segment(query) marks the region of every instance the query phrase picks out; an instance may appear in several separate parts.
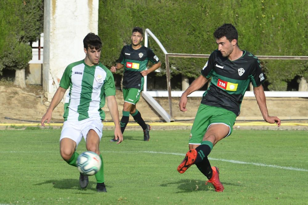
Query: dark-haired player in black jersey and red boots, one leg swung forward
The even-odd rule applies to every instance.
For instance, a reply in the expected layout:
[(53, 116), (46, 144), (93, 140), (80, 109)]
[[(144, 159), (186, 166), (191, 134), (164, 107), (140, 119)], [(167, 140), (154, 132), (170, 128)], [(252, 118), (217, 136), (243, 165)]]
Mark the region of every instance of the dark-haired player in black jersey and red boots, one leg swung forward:
[(238, 34), (232, 24), (224, 24), (215, 32), (218, 49), (214, 50), (196, 78), (180, 98), (180, 111), (187, 111), (187, 96), (200, 89), (211, 78), (203, 94), (189, 137), (189, 151), (177, 167), (184, 173), (191, 165), (204, 174), (215, 191), (224, 191), (219, 170), (211, 167), (208, 155), (221, 139), (231, 135), (241, 102), (250, 82), (263, 119), (280, 126), (280, 119), (268, 115), (262, 83), (265, 81), (260, 61), (237, 44)]

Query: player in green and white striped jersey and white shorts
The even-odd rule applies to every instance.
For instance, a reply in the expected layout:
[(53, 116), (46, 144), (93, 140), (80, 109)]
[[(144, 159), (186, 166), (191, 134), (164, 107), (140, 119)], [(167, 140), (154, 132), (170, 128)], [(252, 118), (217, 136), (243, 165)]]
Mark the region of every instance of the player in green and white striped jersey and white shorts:
[[(61, 102), (67, 89), (69, 93), (64, 104), (64, 123), (60, 137), (61, 157), (76, 167), (79, 154), (75, 151), (81, 139), (86, 141), (88, 151), (95, 152), (102, 160), (100, 170), (95, 174), (98, 192), (107, 192), (104, 183), (103, 158), (99, 151), (99, 141), (102, 137), (105, 119), (103, 107), (105, 98), (111, 117), (115, 123), (115, 139), (118, 143), (123, 140), (120, 129), (118, 106), (115, 100), (115, 83), (111, 71), (99, 62), (102, 42), (98, 35), (89, 33), (83, 39), (86, 57), (78, 62), (69, 64), (64, 70), (59, 88), (42, 117), (41, 125), (51, 120), (52, 111)], [(79, 184), (86, 188), (88, 176), (80, 174)]]

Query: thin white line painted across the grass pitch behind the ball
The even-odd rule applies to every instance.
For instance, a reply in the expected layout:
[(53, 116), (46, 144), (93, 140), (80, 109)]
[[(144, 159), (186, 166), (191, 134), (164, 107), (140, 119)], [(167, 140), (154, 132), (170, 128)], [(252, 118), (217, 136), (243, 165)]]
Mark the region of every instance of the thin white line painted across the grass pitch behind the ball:
[[(0, 153), (52, 153), (53, 151), (0, 151)], [(179, 155), (185, 156), (182, 153), (175, 153), (175, 152), (156, 152), (156, 151), (101, 151), (105, 153), (153, 153), (153, 154), (164, 154), (164, 155)], [(272, 167), (278, 169), (286, 169), (286, 170), (293, 170), (293, 171), (308, 171), (307, 169), (302, 168), (295, 168), (295, 167), (283, 167), (278, 165), (271, 165), (271, 164), (263, 164), (263, 163), (254, 163), (254, 162), (242, 162), (237, 160), (229, 160), (229, 159), (215, 159), (209, 157), (210, 160), (221, 161), (221, 162), (229, 162), (235, 164), (251, 164), (259, 167)]]

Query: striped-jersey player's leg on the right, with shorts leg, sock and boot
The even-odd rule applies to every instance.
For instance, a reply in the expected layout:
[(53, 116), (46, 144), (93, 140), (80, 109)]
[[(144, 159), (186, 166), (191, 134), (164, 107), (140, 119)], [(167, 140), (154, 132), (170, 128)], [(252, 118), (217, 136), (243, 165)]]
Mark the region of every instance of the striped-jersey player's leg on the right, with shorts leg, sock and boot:
[(103, 157), (99, 151), (99, 142), (102, 137), (103, 125), (99, 120), (89, 120), (83, 128), (83, 136), (86, 136), (87, 151), (95, 152), (102, 161), (99, 171), (95, 174), (96, 190), (98, 192), (107, 192), (104, 179)]

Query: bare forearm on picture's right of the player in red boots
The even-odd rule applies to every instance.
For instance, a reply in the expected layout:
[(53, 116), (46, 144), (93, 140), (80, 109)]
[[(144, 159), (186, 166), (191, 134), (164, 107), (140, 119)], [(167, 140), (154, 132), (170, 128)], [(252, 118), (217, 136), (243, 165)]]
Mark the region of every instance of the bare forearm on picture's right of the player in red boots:
[(263, 119), (268, 123), (276, 123), (278, 127), (280, 126), (281, 120), (276, 116), (269, 116), (266, 107), (266, 98), (263, 90), (263, 86), (253, 87), (254, 96), (257, 99), (258, 106), (260, 108)]

